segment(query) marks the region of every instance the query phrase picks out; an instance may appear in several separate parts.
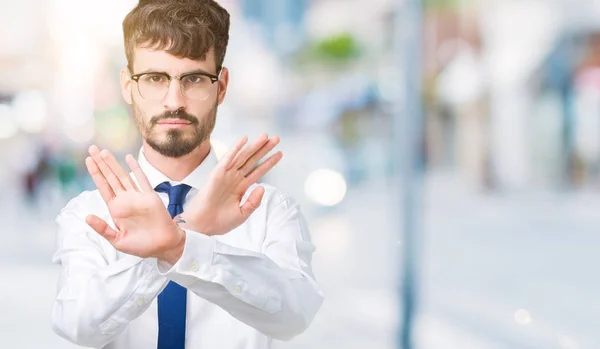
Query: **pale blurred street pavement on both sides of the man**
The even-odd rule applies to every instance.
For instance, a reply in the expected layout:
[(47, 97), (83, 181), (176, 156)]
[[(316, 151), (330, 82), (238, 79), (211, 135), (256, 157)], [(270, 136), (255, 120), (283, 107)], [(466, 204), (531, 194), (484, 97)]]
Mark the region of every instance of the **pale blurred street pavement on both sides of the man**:
[[(305, 334), (276, 348), (394, 347), (402, 242), (390, 189), (365, 183), (333, 211), (307, 213), (326, 302)], [(425, 195), (420, 348), (600, 346), (600, 196), (474, 194), (443, 174), (428, 177)], [(50, 329), (52, 218), (2, 202), (2, 347), (74, 348)]]

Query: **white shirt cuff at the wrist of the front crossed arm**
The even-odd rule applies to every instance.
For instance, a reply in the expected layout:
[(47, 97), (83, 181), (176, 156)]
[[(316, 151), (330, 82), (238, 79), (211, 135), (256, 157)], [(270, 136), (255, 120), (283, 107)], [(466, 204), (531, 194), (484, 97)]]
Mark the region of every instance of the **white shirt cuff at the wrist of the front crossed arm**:
[(210, 279), (216, 240), (192, 230), (184, 229), (184, 231), (185, 245), (179, 261), (171, 264), (159, 260), (157, 266), (160, 275), (183, 287), (188, 287), (199, 279)]

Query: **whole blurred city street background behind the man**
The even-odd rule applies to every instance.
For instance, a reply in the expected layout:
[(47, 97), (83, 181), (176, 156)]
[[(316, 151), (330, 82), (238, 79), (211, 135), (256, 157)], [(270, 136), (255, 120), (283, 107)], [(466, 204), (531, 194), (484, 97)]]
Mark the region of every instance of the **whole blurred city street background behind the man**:
[[(276, 348), (600, 348), (600, 1), (219, 2), (213, 146), (281, 136), (264, 182), (301, 203), (326, 297)], [(2, 348), (75, 348), (49, 322), (54, 218), (94, 189), (90, 144), (139, 149), (135, 4), (0, 0)]]

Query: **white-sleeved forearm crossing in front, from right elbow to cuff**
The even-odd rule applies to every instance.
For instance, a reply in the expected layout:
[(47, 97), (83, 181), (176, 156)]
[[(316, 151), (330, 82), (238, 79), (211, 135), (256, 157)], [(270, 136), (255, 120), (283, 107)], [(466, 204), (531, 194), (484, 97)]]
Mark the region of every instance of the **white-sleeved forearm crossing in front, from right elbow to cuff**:
[(159, 272), (238, 320), (276, 339), (303, 332), (322, 296), (310, 276), (280, 268), (266, 255), (229, 246), (187, 231), (176, 265)]

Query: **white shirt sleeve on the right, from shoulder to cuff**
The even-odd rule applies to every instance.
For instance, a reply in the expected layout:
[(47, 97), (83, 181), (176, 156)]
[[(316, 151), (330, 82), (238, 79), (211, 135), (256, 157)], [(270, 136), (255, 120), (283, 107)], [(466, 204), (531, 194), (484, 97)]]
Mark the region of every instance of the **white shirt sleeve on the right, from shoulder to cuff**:
[(298, 205), (280, 193), (268, 203), (261, 252), (187, 230), (179, 261), (158, 267), (238, 320), (289, 340), (309, 326), (323, 301), (311, 268), (314, 250)]

